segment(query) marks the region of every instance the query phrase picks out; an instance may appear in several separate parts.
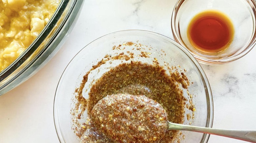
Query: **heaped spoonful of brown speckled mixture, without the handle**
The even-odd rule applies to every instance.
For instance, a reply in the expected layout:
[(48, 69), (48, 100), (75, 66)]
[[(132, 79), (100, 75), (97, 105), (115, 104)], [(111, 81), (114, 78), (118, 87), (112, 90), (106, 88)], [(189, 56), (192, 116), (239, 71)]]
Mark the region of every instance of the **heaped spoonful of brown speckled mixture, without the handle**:
[(102, 98), (91, 112), (96, 128), (117, 142), (150, 143), (165, 135), (163, 107), (144, 95), (113, 94)]

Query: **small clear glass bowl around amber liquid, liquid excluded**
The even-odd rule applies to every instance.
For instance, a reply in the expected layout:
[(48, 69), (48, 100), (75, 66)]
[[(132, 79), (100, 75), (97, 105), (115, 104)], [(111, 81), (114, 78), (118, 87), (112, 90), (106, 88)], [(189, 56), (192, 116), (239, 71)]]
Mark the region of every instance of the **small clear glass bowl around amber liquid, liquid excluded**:
[[(255, 45), (255, 9), (254, 0), (178, 0), (171, 18), (173, 37), (200, 63), (214, 65), (232, 62), (245, 56)], [(206, 10), (220, 11), (233, 23), (234, 39), (228, 48), (220, 52), (199, 51), (191, 45), (187, 37), (192, 18)]]

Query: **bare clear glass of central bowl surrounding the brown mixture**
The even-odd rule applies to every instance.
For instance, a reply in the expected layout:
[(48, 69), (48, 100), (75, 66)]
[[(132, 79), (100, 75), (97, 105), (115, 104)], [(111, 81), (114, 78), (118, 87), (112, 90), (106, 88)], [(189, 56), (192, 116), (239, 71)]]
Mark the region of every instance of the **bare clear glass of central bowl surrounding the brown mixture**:
[[(194, 95), (193, 103), (196, 108), (195, 118), (192, 120), (191, 125), (212, 127), (212, 93), (207, 77), (197, 60), (184, 47), (163, 35), (142, 30), (126, 30), (105, 35), (91, 42), (70, 61), (63, 72), (56, 89), (53, 107), (54, 123), (60, 142), (79, 142), (72, 130), (72, 116), (70, 111), (73, 106), (72, 99), (76, 94), (75, 89), (80, 86), (83, 75), (85, 75), (93, 65), (96, 65), (106, 54), (111, 55), (117, 52), (115, 51), (113, 53), (114, 45), (119, 45), (129, 41), (135, 43), (139, 42), (142, 45), (152, 47), (152, 54), (150, 56), (153, 59), (156, 57), (160, 64), (166, 62), (170, 66), (180, 67), (182, 71), (183, 69), (187, 70), (186, 75), (189, 77), (191, 82), (193, 82), (193, 84), (188, 87), (188, 91)], [(148, 48), (146, 48), (146, 50), (147, 49)], [(126, 53), (125, 50), (127, 50), (127, 48), (120, 50), (120, 52)], [(166, 56), (162, 56), (160, 54), (162, 51), (165, 52)], [(140, 57), (134, 58), (133, 60), (150, 63), (152, 58)], [(108, 66), (113, 65), (113, 63), (114, 62), (111, 62), (103, 67), (109, 70)], [(101, 72), (104, 73), (106, 71), (96, 71), (95, 77), (98, 78)], [(95, 77), (88, 77), (88, 81), (95, 81)], [(84, 94), (84, 90), (86, 89), (84, 88), (83, 95), (86, 96), (86, 94)], [(184, 90), (183, 93), (184, 97), (188, 96), (187, 90)], [(85, 114), (82, 115), (81, 120), (85, 121), (86, 117), (87, 114), (85, 112)], [(191, 120), (185, 119), (184, 124), (189, 124), (190, 121)], [(208, 134), (187, 131), (181, 132), (185, 135), (185, 138), (181, 140), (182, 142), (206, 143), (209, 138)]]

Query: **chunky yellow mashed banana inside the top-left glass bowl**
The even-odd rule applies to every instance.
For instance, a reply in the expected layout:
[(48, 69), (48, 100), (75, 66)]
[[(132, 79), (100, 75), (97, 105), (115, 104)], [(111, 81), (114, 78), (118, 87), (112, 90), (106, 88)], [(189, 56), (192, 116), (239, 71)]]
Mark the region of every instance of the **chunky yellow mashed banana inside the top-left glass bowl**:
[(60, 0), (0, 1), (0, 72), (38, 36)]

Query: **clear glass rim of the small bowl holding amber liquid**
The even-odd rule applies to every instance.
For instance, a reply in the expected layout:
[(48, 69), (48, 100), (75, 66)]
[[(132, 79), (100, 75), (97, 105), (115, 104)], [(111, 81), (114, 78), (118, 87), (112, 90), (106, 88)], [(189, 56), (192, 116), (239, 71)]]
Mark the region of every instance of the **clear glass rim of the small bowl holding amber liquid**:
[[(183, 47), (186, 48), (186, 46), (184, 46), (182, 40), (179, 38), (178, 36), (178, 32), (176, 31), (176, 18), (177, 18), (177, 13), (181, 7), (181, 5), (183, 4), (183, 2), (185, 2), (186, 0), (178, 0), (177, 3), (175, 4), (174, 8), (173, 8), (173, 12), (172, 12), (172, 16), (171, 16), (171, 28), (172, 28), (172, 34), (173, 34), (173, 38), (176, 42), (178, 42), (179, 44), (181, 44)], [(241, 1), (245, 1), (245, 2), (251, 2), (253, 4), (253, 8), (252, 5), (250, 4), (250, 8), (252, 8), (253, 11), (253, 15), (254, 18), (256, 19), (256, 1), (255, 0), (241, 0)], [(255, 25), (255, 19), (254, 19), (254, 27)], [(254, 29), (254, 34), (252, 36), (252, 40), (249, 42), (249, 44), (246, 46), (246, 48), (241, 51), (239, 54), (237, 54), (236, 56), (233, 57), (229, 57), (229, 58), (225, 58), (225, 59), (221, 59), (221, 60), (214, 60), (214, 59), (207, 59), (207, 58), (203, 58), (201, 56), (195, 55), (193, 52), (190, 52), (190, 50), (188, 50), (188, 48), (186, 48), (200, 63), (203, 64), (208, 64), (208, 65), (221, 65), (221, 64), (226, 64), (226, 63), (230, 63), (232, 61), (235, 61), (237, 59), (242, 58), (243, 56), (245, 56), (247, 53), (249, 53), (251, 51), (251, 49), (255, 46), (256, 44), (256, 28)]]

